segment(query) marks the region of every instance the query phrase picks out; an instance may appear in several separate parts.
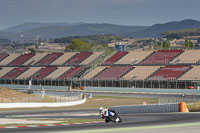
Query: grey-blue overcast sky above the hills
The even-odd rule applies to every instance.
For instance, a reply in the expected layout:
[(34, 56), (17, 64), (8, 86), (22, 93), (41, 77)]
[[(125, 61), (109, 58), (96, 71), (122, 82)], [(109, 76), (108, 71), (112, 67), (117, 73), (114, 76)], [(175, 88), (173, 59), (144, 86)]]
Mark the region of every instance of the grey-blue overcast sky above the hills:
[(25, 22), (150, 26), (200, 20), (200, 0), (0, 0), (0, 29)]

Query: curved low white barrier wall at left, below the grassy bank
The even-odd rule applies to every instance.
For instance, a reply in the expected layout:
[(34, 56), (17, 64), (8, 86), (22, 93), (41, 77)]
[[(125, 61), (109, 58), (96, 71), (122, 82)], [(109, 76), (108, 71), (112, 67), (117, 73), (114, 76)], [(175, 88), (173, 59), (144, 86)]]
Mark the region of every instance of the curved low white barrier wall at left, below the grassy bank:
[(38, 108), (38, 107), (65, 107), (83, 104), (86, 98), (79, 101), (60, 103), (0, 103), (0, 108)]

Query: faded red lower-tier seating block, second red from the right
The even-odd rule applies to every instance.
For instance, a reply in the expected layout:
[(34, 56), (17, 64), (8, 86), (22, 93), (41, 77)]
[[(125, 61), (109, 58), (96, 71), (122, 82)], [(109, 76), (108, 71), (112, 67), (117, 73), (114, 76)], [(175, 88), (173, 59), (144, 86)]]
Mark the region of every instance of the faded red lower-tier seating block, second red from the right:
[(102, 79), (102, 80), (112, 80), (119, 79), (124, 74), (128, 73), (133, 67), (132, 66), (111, 66), (104, 71), (97, 74), (94, 79)]

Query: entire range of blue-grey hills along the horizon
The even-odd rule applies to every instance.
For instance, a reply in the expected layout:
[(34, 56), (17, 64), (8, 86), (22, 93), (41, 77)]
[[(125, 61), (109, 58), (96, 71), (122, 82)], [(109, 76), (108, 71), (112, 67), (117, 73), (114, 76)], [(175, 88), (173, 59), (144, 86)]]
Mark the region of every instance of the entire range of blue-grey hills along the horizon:
[[(161, 33), (200, 28), (200, 21), (185, 19), (152, 26), (124, 26), (108, 23), (39, 23), (30, 22), (0, 31), (0, 38), (9, 40), (55, 39), (68, 36), (120, 35), (135, 38), (161, 37)], [(23, 37), (21, 37), (23, 35)]]

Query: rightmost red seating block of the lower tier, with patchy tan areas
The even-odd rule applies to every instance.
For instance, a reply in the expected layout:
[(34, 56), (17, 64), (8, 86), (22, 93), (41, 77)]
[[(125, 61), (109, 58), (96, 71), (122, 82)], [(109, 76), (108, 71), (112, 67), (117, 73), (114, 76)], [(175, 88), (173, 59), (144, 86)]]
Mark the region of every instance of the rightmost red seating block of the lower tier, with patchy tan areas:
[(176, 80), (183, 73), (187, 72), (190, 66), (165, 66), (153, 73), (148, 80)]

